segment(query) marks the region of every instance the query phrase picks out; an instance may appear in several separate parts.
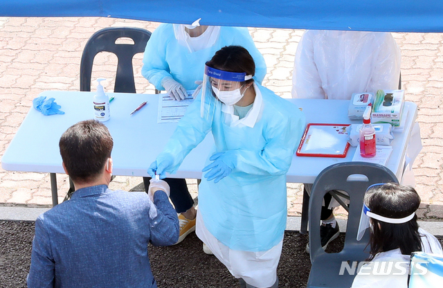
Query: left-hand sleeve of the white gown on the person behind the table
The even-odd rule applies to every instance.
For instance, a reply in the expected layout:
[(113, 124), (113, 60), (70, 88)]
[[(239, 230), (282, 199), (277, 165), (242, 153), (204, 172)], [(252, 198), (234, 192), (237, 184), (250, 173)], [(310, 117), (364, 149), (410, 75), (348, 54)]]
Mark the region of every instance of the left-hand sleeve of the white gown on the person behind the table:
[(309, 33), (305, 33), (298, 43), (292, 71), (292, 98), (325, 99), (317, 66), (322, 63), (314, 60), (314, 45)]

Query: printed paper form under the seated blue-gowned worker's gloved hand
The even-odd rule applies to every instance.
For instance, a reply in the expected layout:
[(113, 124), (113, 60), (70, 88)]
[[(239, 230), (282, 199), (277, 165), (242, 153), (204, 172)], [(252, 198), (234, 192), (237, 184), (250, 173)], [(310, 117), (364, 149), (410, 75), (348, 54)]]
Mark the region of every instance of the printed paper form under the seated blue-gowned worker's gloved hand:
[(188, 106), (194, 102), (192, 93), (194, 90), (187, 91), (188, 95), (184, 100), (172, 100), (168, 93), (159, 94), (159, 112), (157, 113), (157, 123), (174, 123), (179, 122), (181, 117), (185, 115)]

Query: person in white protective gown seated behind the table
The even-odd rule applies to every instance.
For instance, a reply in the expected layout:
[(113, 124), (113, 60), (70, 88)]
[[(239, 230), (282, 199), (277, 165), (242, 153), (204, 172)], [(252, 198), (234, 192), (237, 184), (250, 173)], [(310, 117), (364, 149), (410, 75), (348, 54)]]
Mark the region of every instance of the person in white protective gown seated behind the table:
[[(350, 100), (352, 93), (398, 89), (400, 60), (399, 46), (390, 33), (306, 30), (297, 46), (292, 97)], [(419, 131), (418, 125), (415, 129)], [(408, 152), (410, 166), (421, 149), (417, 133), (418, 147)], [(311, 184), (305, 184), (305, 190), (310, 194)], [(326, 249), (340, 234), (332, 213), (339, 204), (329, 193), (324, 202), (320, 237)]]

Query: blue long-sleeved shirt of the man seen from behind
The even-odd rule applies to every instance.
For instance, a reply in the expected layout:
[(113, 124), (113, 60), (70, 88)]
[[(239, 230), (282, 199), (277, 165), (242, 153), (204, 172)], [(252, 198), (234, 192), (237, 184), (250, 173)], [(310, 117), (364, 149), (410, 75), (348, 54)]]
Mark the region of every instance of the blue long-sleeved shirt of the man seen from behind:
[(156, 287), (147, 244), (177, 242), (177, 213), (163, 191), (150, 219), (145, 192), (92, 186), (35, 222), (28, 287)]

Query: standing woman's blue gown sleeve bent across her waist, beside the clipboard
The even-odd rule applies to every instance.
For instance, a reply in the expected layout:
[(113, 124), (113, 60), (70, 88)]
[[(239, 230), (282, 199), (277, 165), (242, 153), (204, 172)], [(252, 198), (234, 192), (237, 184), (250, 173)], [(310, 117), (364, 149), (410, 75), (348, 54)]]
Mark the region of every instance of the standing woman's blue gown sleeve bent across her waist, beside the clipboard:
[(229, 150), (228, 153), (235, 155), (233, 172), (253, 175), (286, 174), (304, 128), (305, 116), (300, 112), (264, 132), (267, 143), (262, 151)]

